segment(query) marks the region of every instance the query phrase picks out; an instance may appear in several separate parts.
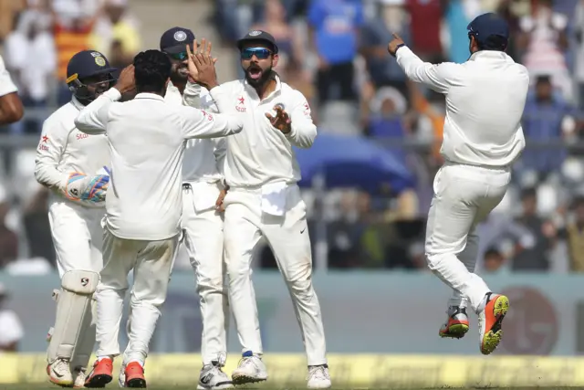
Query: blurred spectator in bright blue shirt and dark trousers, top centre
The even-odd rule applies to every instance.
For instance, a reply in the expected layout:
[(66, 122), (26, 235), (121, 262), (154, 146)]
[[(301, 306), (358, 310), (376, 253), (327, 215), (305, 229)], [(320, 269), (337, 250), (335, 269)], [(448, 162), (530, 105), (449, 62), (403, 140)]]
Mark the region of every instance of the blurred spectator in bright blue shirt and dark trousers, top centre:
[(363, 23), (360, 0), (312, 0), (308, 8), (310, 40), (318, 53), (318, 100), (357, 100), (353, 58)]

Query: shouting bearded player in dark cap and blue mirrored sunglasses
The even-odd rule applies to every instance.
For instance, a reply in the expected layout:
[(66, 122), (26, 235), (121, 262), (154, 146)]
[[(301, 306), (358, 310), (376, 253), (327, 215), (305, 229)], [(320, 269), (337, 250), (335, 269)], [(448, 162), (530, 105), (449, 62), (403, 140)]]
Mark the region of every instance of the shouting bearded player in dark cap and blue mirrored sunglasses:
[[(292, 145), (312, 146), (317, 127), (305, 97), (273, 71), (277, 45), (265, 31), (237, 43), (245, 79), (218, 86), (201, 82), (222, 113), (235, 113), (244, 130), (227, 138), (224, 161), (225, 262), (235, 325), (243, 359), (232, 374), (235, 385), (267, 379), (257, 318), (251, 261), (261, 237), (272, 248), (297, 313), (308, 355), (308, 387), (328, 388), (325, 333), (312, 287), (312, 256), (306, 205), (297, 181), (300, 170)], [(200, 56), (199, 54), (195, 55)], [(210, 67), (214, 65), (208, 64)]]

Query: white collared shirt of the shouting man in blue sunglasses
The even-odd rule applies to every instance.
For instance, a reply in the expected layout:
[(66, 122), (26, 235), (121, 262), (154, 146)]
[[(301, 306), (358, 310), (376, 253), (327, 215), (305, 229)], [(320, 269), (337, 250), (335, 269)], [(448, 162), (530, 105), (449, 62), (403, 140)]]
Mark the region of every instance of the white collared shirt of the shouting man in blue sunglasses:
[[(300, 168), (292, 145), (309, 148), (317, 137), (308, 101), (298, 90), (276, 77), (276, 90), (259, 99), (245, 80), (235, 80), (210, 91), (222, 113), (244, 119), (242, 132), (225, 139), (224, 177), (233, 187), (259, 186), (300, 180)], [(282, 107), (291, 119), (292, 131), (284, 134), (272, 126), (266, 113)]]

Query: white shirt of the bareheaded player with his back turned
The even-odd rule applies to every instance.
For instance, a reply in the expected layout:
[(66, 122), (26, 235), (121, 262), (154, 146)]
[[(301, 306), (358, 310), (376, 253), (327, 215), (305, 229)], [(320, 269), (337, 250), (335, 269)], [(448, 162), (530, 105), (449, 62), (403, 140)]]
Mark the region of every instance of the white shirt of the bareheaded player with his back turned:
[(241, 119), (169, 104), (152, 93), (117, 102), (110, 89), (79, 113), (78, 129), (105, 133), (111, 175), (106, 226), (120, 238), (161, 240), (181, 231), (184, 141), (240, 132)]

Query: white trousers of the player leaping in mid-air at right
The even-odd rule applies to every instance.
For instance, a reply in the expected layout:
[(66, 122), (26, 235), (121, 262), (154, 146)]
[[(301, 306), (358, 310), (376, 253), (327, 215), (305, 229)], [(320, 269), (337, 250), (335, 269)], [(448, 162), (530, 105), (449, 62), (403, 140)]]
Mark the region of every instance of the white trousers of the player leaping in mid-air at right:
[(509, 168), (445, 163), (434, 178), (434, 195), (426, 227), (428, 267), (454, 290), (449, 306), (477, 311), (489, 292), (474, 273), (478, 252), (475, 227), (505, 196)]

